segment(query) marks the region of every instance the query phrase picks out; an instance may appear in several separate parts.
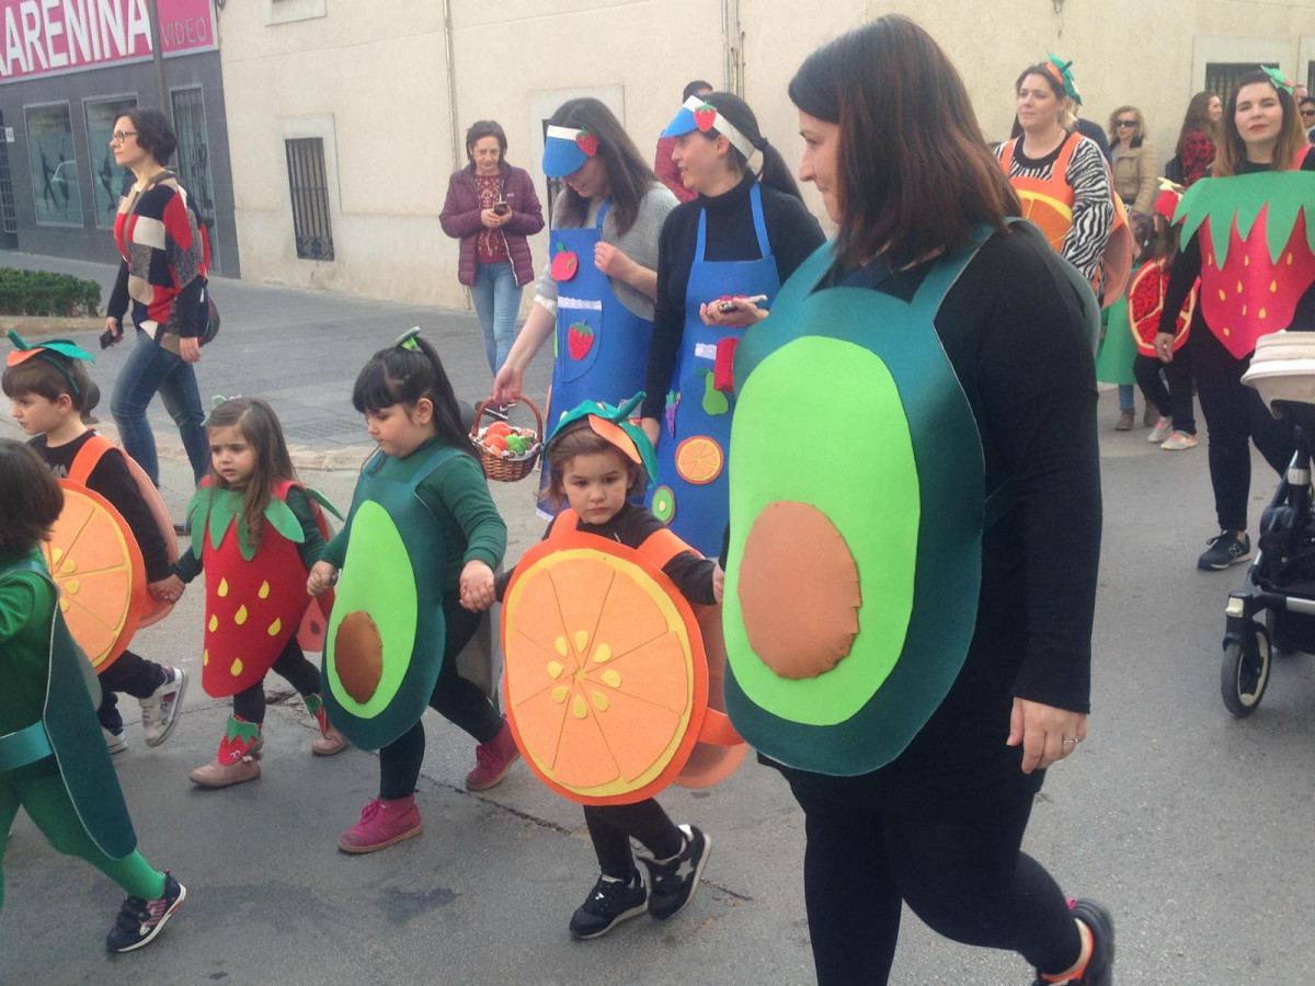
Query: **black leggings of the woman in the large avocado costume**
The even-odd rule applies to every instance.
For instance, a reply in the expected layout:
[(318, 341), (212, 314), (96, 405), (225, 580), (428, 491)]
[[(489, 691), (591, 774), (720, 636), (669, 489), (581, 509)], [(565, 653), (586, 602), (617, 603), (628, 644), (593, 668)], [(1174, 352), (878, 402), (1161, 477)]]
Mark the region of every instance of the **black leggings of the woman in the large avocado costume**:
[(819, 986), (884, 986), (907, 902), (934, 931), (1019, 952), (1043, 973), (1072, 968), (1082, 941), (1059, 885), (1019, 851), (1032, 810), (1020, 790), (952, 819), (884, 811), (863, 778), (788, 774), (805, 812), (803, 897)]

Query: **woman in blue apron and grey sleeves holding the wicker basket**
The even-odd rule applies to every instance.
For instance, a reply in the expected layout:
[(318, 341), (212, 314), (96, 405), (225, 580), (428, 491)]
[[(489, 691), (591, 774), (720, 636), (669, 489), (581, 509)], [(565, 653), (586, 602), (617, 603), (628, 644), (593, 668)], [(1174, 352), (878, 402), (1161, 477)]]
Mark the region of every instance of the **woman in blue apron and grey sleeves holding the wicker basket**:
[[(621, 405), (644, 384), (658, 235), (676, 196), (644, 163), (617, 117), (594, 99), (569, 100), (548, 124), (543, 174), (563, 189), (552, 206), (548, 266), (530, 316), (493, 381), (493, 400), (521, 397), (525, 368), (552, 337), (552, 389), (543, 425), (583, 401)], [(539, 513), (552, 517), (542, 492)]]

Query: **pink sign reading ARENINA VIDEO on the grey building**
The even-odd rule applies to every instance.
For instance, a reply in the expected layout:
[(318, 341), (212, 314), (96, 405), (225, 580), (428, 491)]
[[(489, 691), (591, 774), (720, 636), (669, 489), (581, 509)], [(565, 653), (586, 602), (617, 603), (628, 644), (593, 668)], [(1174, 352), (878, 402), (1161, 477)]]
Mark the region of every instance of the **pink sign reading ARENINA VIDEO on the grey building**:
[[(210, 0), (158, 0), (164, 57), (217, 47)], [(151, 57), (146, 0), (0, 0), (0, 83)]]

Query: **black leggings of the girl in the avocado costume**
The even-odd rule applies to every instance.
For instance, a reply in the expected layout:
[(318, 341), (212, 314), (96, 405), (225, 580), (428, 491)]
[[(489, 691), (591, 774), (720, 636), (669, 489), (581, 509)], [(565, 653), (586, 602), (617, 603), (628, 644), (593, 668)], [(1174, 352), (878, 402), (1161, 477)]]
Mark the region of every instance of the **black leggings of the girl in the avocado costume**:
[[(447, 624), (443, 665), (429, 706), (466, 730), (476, 741), (489, 743), (502, 731), (502, 716), (484, 694), (484, 689), (456, 673), (456, 655), (475, 636), (481, 615), (464, 609), (455, 592), (443, 597), (443, 619)], [(423, 763), (425, 727), (417, 719), (406, 732), (379, 751), (379, 797), (392, 801), (414, 794)]]

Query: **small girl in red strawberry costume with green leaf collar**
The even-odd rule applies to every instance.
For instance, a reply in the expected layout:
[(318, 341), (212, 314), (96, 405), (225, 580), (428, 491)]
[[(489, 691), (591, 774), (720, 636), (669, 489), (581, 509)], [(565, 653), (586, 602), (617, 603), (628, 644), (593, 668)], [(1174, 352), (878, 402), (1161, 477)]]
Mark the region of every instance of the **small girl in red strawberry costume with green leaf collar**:
[(347, 740), (329, 722), (320, 669), (306, 660), (297, 628), (310, 597), (305, 573), (320, 559), (327, 526), (316, 490), (292, 468), (274, 409), (256, 397), (220, 404), (206, 421), (210, 475), (188, 506), (192, 550), (174, 565), (181, 590), (205, 572), (205, 643), (201, 685), (214, 698), (233, 695), (233, 713), (214, 760), (188, 777), (227, 787), (260, 776), (264, 745), (264, 676), (275, 670), (320, 724), (317, 756), (342, 752)]

